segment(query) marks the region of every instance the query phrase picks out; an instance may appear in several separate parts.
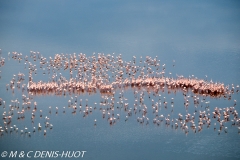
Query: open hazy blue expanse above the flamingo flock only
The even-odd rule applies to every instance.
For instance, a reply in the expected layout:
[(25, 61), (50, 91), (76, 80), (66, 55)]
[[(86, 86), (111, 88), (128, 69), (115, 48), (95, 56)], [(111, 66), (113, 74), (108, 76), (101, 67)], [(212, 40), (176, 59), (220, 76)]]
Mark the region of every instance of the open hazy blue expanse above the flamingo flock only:
[[(231, 83), (226, 77), (240, 78), (239, 65), (233, 66), (239, 62), (239, 6), (239, 1), (1, 1), (0, 47), (44, 55), (115, 52), (126, 60), (158, 55), (163, 63), (175, 59), (185, 76), (222, 73), (226, 64), (238, 74), (215, 80)], [(202, 69), (188, 72), (186, 62)]]

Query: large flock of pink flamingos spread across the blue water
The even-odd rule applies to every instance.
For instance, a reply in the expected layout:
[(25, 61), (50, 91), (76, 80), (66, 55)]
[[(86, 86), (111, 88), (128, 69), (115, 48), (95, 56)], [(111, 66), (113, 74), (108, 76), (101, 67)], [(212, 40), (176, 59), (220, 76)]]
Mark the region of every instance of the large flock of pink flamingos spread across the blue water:
[[(1, 51), (0, 51), (1, 53)], [(201, 132), (204, 126), (208, 128), (214, 125), (214, 130), (221, 134), (222, 130), (228, 132), (225, 123), (231, 123), (238, 127), (240, 133), (240, 118), (236, 110), (237, 101), (234, 100), (231, 106), (214, 107), (211, 111), (207, 97), (224, 98), (231, 101), (232, 94), (238, 94), (239, 85), (224, 85), (223, 83), (214, 83), (207, 79), (198, 79), (190, 76), (166, 76), (166, 65), (161, 64), (156, 56), (155, 58), (147, 56), (140, 57), (139, 61), (133, 56), (129, 62), (123, 61), (121, 54), (115, 56), (103, 53), (87, 57), (85, 54), (55, 54), (55, 56), (45, 58), (40, 52), (30, 51), (30, 55), (12, 52), (8, 53), (8, 58), (24, 64), (24, 69), (28, 70), (28, 76), (19, 72), (13, 75), (12, 79), (6, 84), (7, 92), (15, 90), (20, 91), (22, 97), (19, 99), (5, 102), (0, 99), (0, 106), (3, 107), (2, 120), (0, 123), (0, 134), (20, 132), (21, 135), (29, 135), (32, 132), (44, 130), (47, 134), (48, 129), (53, 128), (50, 123), (49, 115), (53, 112), (59, 113), (59, 108), (48, 107), (48, 113), (43, 112), (43, 107), (38, 106), (34, 97), (42, 95), (69, 96), (70, 99), (64, 106), (62, 112), (70, 109), (72, 114), (80, 113), (83, 117), (91, 115), (92, 112), (100, 110), (103, 119), (107, 119), (110, 125), (114, 125), (120, 120), (128, 121), (130, 117), (136, 115), (136, 121), (140, 124), (171, 126), (173, 129), (181, 128), (184, 133), (190, 129), (193, 132)], [(175, 62), (175, 61), (174, 61)], [(173, 67), (175, 64), (173, 62)], [(5, 58), (0, 58), (0, 67), (4, 67)], [(39, 74), (48, 75), (48, 81), (34, 81)], [(0, 72), (1, 76), (1, 72)], [(27, 78), (26, 78), (27, 77)], [(66, 78), (67, 77), (67, 78)], [(125, 90), (132, 89), (133, 102), (128, 102)], [(193, 113), (182, 115), (178, 113), (173, 116), (175, 101), (171, 98), (168, 103), (166, 97), (161, 94), (176, 93), (181, 91), (184, 99), (186, 112), (188, 107), (195, 107)], [(1, 89), (3, 93), (3, 90)], [(83, 93), (100, 94), (100, 102), (83, 101)], [(6, 105), (9, 103), (9, 105)], [(168, 108), (169, 114), (163, 115), (161, 108)], [(202, 108), (202, 106), (205, 106)], [(68, 106), (68, 107), (65, 107)], [(179, 104), (177, 104), (179, 106)], [(201, 106), (201, 107), (200, 107)], [(124, 111), (121, 113), (120, 111)], [(17, 115), (15, 114), (17, 112)], [(150, 115), (152, 113), (152, 115)], [(44, 122), (36, 123), (35, 127), (29, 129), (24, 127), (18, 129), (16, 124), (12, 124), (12, 119), (24, 119), (25, 114), (31, 114), (31, 121), (35, 124), (35, 117), (45, 117)], [(124, 115), (122, 115), (124, 114)], [(44, 127), (42, 127), (42, 125)], [(93, 122), (97, 126), (97, 119)]]

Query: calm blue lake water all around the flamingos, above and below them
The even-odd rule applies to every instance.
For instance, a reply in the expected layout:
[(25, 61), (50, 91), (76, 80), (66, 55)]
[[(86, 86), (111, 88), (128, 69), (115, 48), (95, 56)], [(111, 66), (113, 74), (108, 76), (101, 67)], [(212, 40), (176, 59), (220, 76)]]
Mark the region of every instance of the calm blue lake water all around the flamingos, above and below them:
[[(235, 1), (217, 2), (185, 2), (159, 3), (144, 2), (66, 2), (66, 1), (22, 1), (0, 2), (0, 48), (1, 57), (5, 58), (5, 65), (0, 68), (0, 98), (6, 101), (6, 108), (0, 107), (0, 113), (9, 111), (11, 100), (18, 98), (22, 104), (22, 92), (15, 89), (6, 90), (6, 84), (13, 74), (19, 72), (28, 77), (28, 70), (24, 69), (24, 62), (15, 61), (8, 57), (8, 52), (21, 52), (24, 56), (29, 51), (39, 51), (49, 58), (56, 53), (85, 53), (91, 56), (93, 52), (116, 55), (122, 54), (124, 61), (131, 61), (132, 56), (137, 60), (140, 56), (158, 56), (160, 63), (166, 64), (166, 75), (194, 75), (225, 85), (239, 84), (240, 79), (240, 10)], [(30, 60), (30, 59), (29, 59)], [(173, 67), (175, 60), (175, 67)], [(49, 79), (43, 75), (39, 62), (33, 62), (37, 67), (34, 81)], [(26, 94), (27, 92), (25, 92)], [(119, 91), (115, 98), (119, 96)], [(147, 93), (146, 93), (147, 94)], [(161, 92), (170, 103), (174, 98), (174, 111), (171, 106), (159, 108), (159, 115), (170, 114), (177, 118), (193, 113), (195, 108), (190, 102), (188, 109), (184, 107), (181, 91), (176, 94)], [(189, 92), (190, 94), (190, 92)], [(189, 129), (186, 135), (180, 128), (174, 129), (162, 122), (159, 126), (152, 123), (154, 114), (151, 101), (145, 97), (148, 106), (149, 124), (137, 122), (139, 114), (133, 114), (125, 121), (127, 113), (123, 109), (115, 109), (120, 119), (116, 124), (109, 125), (107, 118), (102, 118), (99, 110), (101, 95), (83, 93), (78, 96), (89, 106), (97, 102), (97, 109), (92, 114), (83, 117), (77, 110), (72, 114), (68, 108), (68, 100), (75, 95), (33, 96), (32, 103), (38, 103), (38, 110), (43, 110), (43, 118), (36, 113), (34, 123), (31, 122), (31, 110), (25, 111), (25, 119), (17, 120), (17, 110), (14, 110), (12, 125), (17, 125), (18, 133), (5, 133), (0, 137), (0, 152), (3, 151), (77, 151), (87, 153), (79, 159), (239, 159), (240, 135), (237, 126), (231, 122), (224, 125), (228, 133), (218, 135), (211, 126), (204, 125), (201, 132), (194, 133)], [(129, 107), (133, 108), (134, 95), (131, 88), (124, 90), (124, 97), (128, 99)], [(156, 102), (158, 97), (151, 94)], [(239, 94), (233, 94), (231, 100), (207, 97), (210, 101), (210, 111), (231, 107), (233, 100), (237, 100), (236, 110), (240, 112)], [(116, 102), (115, 102), (116, 103)], [(48, 107), (52, 106), (49, 114)], [(63, 113), (63, 107), (66, 113)], [(55, 114), (55, 107), (59, 108)], [(33, 108), (33, 105), (32, 105)], [(204, 111), (205, 105), (198, 110)], [(211, 113), (210, 112), (210, 113)], [(20, 134), (24, 127), (32, 131), (38, 123), (44, 125), (44, 117), (50, 118), (53, 129), (36, 131), (31, 137)], [(97, 125), (94, 126), (94, 120)], [(3, 121), (0, 121), (3, 126)], [(43, 126), (44, 128), (44, 126)], [(58, 157), (59, 158), (59, 157)], [(56, 159), (58, 159), (56, 158)], [(6, 158), (5, 158), (6, 159)], [(71, 158), (75, 159), (75, 158)]]

